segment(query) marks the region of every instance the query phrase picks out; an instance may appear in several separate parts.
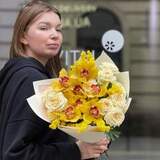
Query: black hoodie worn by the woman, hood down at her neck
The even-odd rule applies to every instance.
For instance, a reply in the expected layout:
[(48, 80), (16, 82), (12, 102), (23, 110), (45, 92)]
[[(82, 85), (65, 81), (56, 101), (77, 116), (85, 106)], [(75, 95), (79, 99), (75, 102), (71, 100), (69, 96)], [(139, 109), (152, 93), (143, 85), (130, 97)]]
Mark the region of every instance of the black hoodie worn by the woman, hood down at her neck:
[(69, 136), (49, 129), (29, 107), (32, 82), (51, 78), (33, 58), (13, 58), (0, 72), (0, 160), (80, 160)]

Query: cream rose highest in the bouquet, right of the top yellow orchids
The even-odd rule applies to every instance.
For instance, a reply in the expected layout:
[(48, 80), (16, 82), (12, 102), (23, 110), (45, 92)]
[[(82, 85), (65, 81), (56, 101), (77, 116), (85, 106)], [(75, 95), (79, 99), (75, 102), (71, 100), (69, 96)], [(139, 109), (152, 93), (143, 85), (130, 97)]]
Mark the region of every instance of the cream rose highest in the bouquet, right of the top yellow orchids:
[(116, 76), (115, 73), (119, 73), (118, 68), (113, 65), (112, 63), (102, 63), (99, 66), (99, 72), (98, 72), (98, 82), (104, 83), (108, 81), (115, 81)]

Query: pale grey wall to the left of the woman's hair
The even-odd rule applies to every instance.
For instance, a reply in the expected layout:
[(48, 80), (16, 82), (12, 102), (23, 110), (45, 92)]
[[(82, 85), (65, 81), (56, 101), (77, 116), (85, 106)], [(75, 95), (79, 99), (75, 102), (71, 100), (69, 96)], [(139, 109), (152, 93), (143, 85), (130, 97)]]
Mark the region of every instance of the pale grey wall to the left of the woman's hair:
[(0, 68), (8, 58), (13, 24), (24, 0), (0, 0)]

